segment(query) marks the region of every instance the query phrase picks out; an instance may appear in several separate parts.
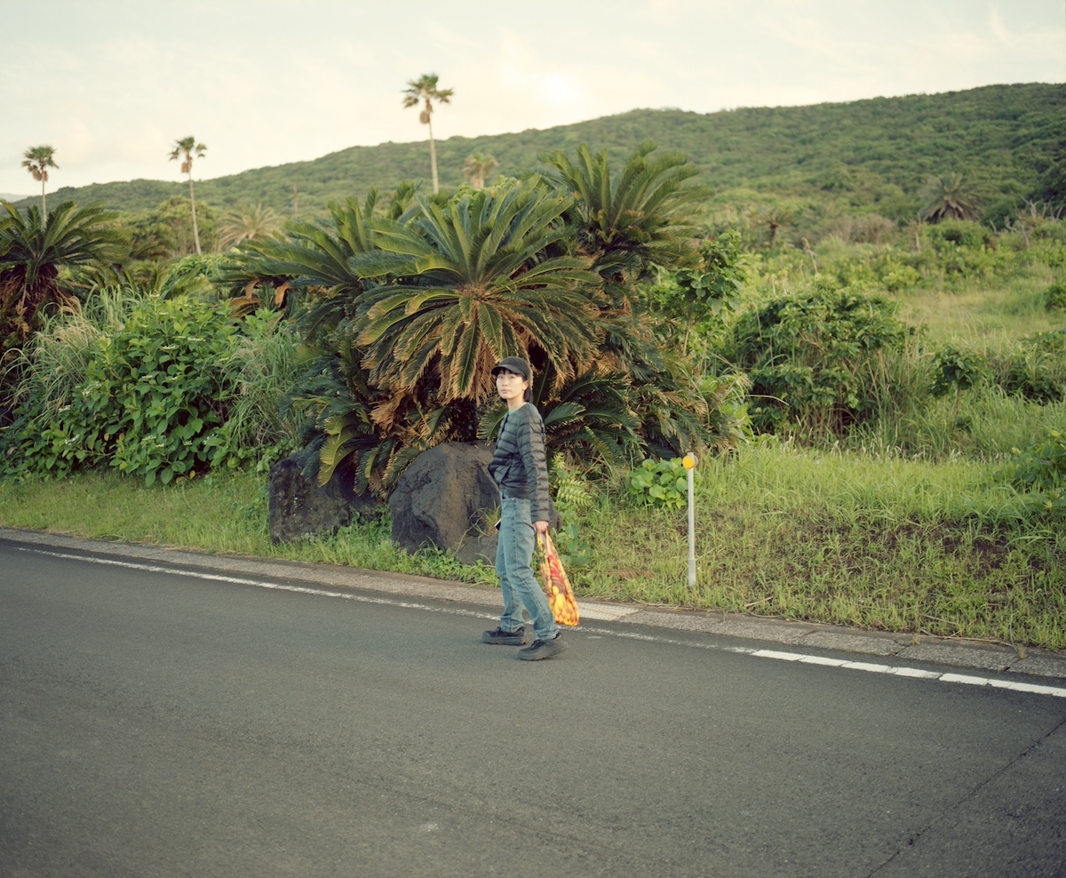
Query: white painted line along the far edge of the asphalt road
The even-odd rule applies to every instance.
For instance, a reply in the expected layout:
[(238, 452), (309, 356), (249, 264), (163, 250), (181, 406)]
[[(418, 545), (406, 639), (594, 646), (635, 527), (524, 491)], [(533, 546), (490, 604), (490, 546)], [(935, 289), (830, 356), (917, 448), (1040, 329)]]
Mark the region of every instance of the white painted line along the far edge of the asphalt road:
[[(118, 561), (113, 558), (93, 558), (86, 555), (71, 555), (62, 552), (48, 552), (42, 548), (29, 548), (23, 546), (18, 546), (17, 548), (19, 552), (46, 555), (51, 558), (85, 561), (93, 564), (109, 564), (112, 566), (127, 568), (129, 570), (143, 570), (149, 573), (166, 573), (176, 576), (191, 576), (194, 579), (210, 579), (217, 582), (253, 586), (255, 588), (271, 589), (273, 591), (289, 591), (295, 594), (310, 594), (316, 597), (339, 597), (342, 601), (355, 601), (361, 604), (379, 604), (391, 607), (402, 607), (404, 609), (429, 610), (430, 612), (443, 612), (450, 616), (464, 616), (474, 619), (497, 618), (496, 613), (479, 612), (477, 610), (467, 610), (459, 607), (433, 607), (427, 604), (401, 601), (394, 597), (370, 597), (365, 594), (353, 594), (346, 591), (332, 591), (327, 589), (310, 588), (308, 586), (291, 586), (281, 582), (269, 582), (262, 579), (245, 579), (239, 576), (223, 576), (217, 573), (204, 573), (199, 571), (181, 570), (180, 568), (160, 566), (157, 564), (139, 564), (133, 561)], [(940, 683), (959, 683), (967, 686), (989, 686), (995, 689), (1010, 689), (1016, 692), (1031, 692), (1033, 695), (1051, 696), (1053, 698), (1066, 698), (1066, 689), (1064, 688), (1056, 686), (1040, 686), (1034, 683), (1021, 683), (1013, 680), (996, 680), (985, 676), (972, 676), (951, 671), (926, 671), (921, 668), (909, 668), (903, 665), (882, 665), (871, 661), (853, 661), (846, 658), (830, 658), (823, 655), (807, 655), (805, 653), (791, 653), (784, 652), (781, 650), (762, 650), (747, 646), (724, 646), (710, 643), (692, 643), (684, 640), (675, 640), (668, 637), (637, 634), (635, 632), (616, 632), (608, 628), (589, 628), (584, 625), (579, 626), (577, 629), (588, 634), (598, 634), (608, 637), (621, 637), (630, 640), (646, 640), (653, 643), (667, 643), (671, 645), (690, 646), (714, 652), (729, 652), (739, 655), (749, 655), (755, 658), (771, 658), (777, 659), (778, 661), (798, 661), (804, 665), (824, 665), (827, 667), (843, 668), (851, 671), (893, 674), (895, 676), (906, 676), (915, 680), (935, 680)]]

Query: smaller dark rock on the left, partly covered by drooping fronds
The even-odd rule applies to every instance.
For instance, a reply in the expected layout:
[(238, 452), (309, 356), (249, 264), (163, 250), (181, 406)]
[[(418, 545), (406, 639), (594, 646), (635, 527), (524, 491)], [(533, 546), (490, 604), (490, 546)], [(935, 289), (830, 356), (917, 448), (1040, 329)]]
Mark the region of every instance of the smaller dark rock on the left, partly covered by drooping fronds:
[(335, 533), (346, 527), (359, 512), (372, 512), (381, 502), (357, 494), (350, 472), (338, 470), (320, 488), (304, 475), (308, 451), (278, 461), (270, 470), (270, 539), (291, 543), (316, 533)]

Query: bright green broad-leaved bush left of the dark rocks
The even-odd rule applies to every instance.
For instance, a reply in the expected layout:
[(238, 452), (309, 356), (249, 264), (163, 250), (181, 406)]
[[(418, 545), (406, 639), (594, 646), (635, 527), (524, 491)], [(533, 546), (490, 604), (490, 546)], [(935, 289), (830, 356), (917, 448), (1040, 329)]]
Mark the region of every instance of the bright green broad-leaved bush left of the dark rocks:
[(90, 345), (83, 379), (58, 410), (37, 393), (5, 443), (6, 470), (62, 475), (107, 464), (147, 484), (237, 465), (247, 449), (225, 428), (238, 388), (227, 372), (237, 330), (225, 312), (151, 298), (113, 337)]

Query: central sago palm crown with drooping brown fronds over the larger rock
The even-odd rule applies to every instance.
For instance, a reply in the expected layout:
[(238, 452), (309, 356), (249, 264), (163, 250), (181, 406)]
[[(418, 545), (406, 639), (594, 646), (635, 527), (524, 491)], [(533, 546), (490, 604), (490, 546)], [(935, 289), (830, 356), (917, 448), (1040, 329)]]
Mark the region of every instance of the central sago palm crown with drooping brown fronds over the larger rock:
[(599, 278), (587, 258), (545, 256), (566, 234), (566, 206), (512, 182), (370, 223), (375, 250), (349, 259), (367, 285), (358, 317), (332, 335), (354, 342), (326, 381), (344, 392), (318, 400), (321, 482), (343, 465), (384, 492), (421, 450), (475, 438), (505, 355), (553, 385), (591, 367), (596, 307), (583, 288), (595, 296)]

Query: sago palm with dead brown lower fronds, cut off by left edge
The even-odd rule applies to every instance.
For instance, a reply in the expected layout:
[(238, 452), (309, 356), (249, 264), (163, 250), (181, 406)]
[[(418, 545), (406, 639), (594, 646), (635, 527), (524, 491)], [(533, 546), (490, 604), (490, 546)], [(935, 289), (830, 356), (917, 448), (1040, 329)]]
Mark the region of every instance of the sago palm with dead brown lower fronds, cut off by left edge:
[(128, 253), (114, 226), (116, 211), (64, 202), (47, 219), (36, 207), (26, 218), (6, 202), (0, 212), (0, 395), (11, 384), (9, 354), (25, 347), (43, 312), (77, 307), (60, 269), (119, 262)]

